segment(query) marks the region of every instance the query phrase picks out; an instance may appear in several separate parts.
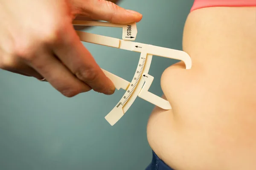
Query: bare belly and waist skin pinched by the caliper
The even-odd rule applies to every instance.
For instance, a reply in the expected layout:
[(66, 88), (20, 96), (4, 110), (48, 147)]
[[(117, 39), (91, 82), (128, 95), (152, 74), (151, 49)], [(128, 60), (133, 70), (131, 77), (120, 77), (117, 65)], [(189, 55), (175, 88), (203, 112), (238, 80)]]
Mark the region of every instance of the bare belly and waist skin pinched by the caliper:
[(256, 8), (192, 11), (179, 62), (163, 73), (172, 110), (155, 108), (147, 127), (155, 153), (175, 170), (256, 169)]

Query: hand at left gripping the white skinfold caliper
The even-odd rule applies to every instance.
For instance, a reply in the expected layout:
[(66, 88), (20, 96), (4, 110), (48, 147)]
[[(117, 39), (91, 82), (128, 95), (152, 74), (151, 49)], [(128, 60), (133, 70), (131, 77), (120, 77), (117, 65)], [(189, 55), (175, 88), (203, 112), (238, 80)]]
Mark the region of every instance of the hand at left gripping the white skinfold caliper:
[(139, 22), (142, 15), (105, 0), (0, 0), (0, 68), (46, 79), (72, 97), (115, 87), (81, 43), (77, 15), (111, 23)]

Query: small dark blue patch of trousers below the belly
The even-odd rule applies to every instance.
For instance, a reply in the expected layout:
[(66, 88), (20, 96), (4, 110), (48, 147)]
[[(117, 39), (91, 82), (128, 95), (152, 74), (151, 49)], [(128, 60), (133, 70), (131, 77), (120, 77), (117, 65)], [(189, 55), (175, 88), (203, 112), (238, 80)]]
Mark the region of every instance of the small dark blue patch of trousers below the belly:
[(167, 164), (165, 164), (154, 151), (153, 153), (153, 158), (151, 161), (151, 164), (148, 165), (148, 167), (145, 170), (173, 170), (170, 168)]

